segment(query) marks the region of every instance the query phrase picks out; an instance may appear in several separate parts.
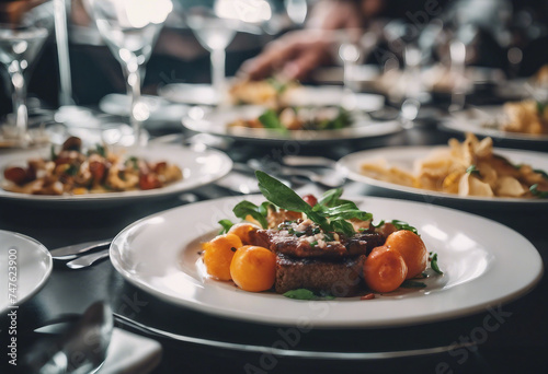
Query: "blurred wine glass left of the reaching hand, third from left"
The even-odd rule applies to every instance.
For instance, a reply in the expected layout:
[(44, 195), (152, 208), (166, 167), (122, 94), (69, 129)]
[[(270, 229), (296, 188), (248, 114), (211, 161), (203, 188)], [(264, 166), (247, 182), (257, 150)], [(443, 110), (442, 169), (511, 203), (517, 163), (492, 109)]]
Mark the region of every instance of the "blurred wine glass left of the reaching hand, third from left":
[(184, 12), (186, 24), (210, 54), (212, 89), (215, 102), (222, 104), (226, 98), (226, 49), (238, 31), (261, 33), (253, 25), (271, 19), (271, 5), (265, 0), (215, 0), (209, 7), (191, 7)]

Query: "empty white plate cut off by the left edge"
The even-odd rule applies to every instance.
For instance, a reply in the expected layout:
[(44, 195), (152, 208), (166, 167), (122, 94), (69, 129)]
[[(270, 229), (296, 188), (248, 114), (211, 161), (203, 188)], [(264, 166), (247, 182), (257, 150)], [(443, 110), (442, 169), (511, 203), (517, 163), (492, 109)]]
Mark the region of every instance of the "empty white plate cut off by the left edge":
[(53, 261), (46, 247), (26, 235), (0, 230), (0, 313), (4, 314), (42, 289)]

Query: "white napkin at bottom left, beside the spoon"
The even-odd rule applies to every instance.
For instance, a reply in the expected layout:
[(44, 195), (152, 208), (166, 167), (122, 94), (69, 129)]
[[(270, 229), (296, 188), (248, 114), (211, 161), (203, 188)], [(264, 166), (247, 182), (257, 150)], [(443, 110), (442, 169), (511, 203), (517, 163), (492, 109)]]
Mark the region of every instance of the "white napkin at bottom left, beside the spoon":
[(162, 346), (119, 328), (114, 328), (106, 360), (98, 374), (147, 374), (159, 363)]

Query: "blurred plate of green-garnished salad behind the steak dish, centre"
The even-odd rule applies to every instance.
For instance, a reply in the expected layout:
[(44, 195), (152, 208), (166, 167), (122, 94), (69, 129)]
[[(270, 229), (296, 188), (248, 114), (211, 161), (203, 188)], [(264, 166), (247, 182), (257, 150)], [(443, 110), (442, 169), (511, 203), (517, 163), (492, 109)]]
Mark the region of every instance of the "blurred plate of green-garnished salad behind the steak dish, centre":
[(265, 108), (246, 105), (203, 109), (195, 107), (182, 120), (197, 132), (252, 141), (332, 142), (381, 137), (401, 130), (398, 121), (379, 121), (363, 112), (341, 106)]

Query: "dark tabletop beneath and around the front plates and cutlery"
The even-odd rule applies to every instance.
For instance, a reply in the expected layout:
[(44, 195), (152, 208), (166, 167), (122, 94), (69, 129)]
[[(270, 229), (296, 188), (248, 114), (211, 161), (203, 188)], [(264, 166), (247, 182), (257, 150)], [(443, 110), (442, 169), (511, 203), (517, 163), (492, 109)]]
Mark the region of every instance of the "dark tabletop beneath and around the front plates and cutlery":
[[(453, 135), (437, 130), (435, 122), (418, 124), (410, 130), (388, 137), (334, 142), (321, 147), (293, 147), (293, 153), (323, 155), (333, 160), (344, 154), (385, 145), (445, 144)], [(459, 136), (459, 139), (463, 139)], [(495, 142), (496, 147), (548, 151), (546, 144)], [(287, 147), (233, 143), (227, 153), (243, 162), (250, 157), (277, 162)], [(548, 156), (548, 154), (547, 154)], [(390, 196), (367, 187), (352, 186), (353, 191), (369, 196)], [(235, 195), (216, 185), (192, 191), (199, 200)], [(392, 196), (390, 196), (392, 197)], [(420, 199), (419, 199), (420, 200)], [(58, 210), (0, 201), (0, 229), (26, 234), (47, 248), (112, 237), (134, 221), (182, 206), (179, 197), (153, 203), (92, 210)], [(444, 203), (431, 201), (430, 203)], [(548, 211), (546, 209), (458, 207), (498, 221), (517, 231), (548, 258)], [(496, 233), (486, 233), (495, 235)], [(5, 249), (5, 248), (2, 248)], [(520, 248), (514, 248), (520, 250)], [(512, 274), (509, 274), (511, 277)], [(383, 352), (446, 347), (437, 354), (377, 360), (323, 360), (269, 355), (259, 352), (219, 349), (169, 339), (158, 339), (163, 358), (153, 373), (532, 373), (548, 369), (548, 282), (544, 277), (527, 294), (503, 305), (492, 305), (475, 315), (444, 322), (381, 329), (312, 329), (299, 336), (295, 349), (319, 351)], [(272, 347), (292, 326), (262, 326), (214, 317), (165, 303), (126, 282), (109, 260), (83, 270), (70, 270), (55, 262), (46, 285), (19, 308), (19, 334), (59, 316), (82, 313), (95, 301), (106, 301), (113, 311), (149, 326), (193, 337), (219, 341)], [(487, 327), (487, 316), (498, 311), (502, 316), (495, 328)], [(9, 319), (0, 316), (2, 352), (5, 363)], [(122, 328), (127, 328), (119, 326)], [(142, 334), (139, 331), (134, 331)], [(35, 337), (28, 334), (30, 344)], [(476, 344), (461, 348), (463, 342)], [(3, 372), (3, 371), (2, 371)]]

